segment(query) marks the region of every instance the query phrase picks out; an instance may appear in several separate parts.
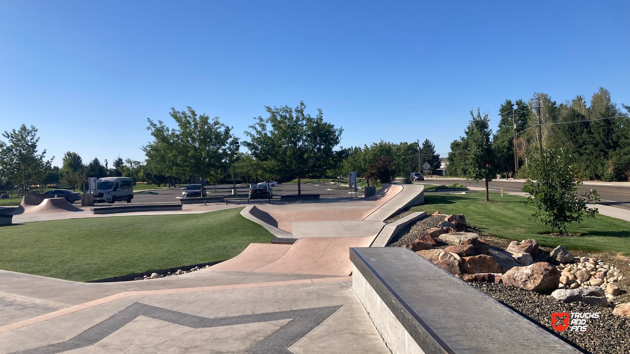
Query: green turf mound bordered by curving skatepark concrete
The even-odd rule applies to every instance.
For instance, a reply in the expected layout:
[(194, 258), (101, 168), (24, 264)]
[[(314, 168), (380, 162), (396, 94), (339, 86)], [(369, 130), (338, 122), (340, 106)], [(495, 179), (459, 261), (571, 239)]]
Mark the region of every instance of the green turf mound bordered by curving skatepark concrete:
[(85, 282), (227, 260), (272, 234), (241, 208), (0, 227), (0, 269)]

